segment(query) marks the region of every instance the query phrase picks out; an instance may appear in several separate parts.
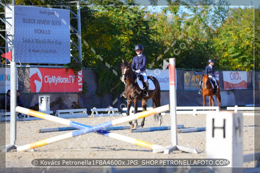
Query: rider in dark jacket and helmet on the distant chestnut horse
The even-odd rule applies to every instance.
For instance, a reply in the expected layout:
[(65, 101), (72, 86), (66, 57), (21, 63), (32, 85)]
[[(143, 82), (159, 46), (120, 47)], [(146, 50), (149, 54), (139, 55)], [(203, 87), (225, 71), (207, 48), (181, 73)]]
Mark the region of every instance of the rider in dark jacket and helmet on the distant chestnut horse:
[[(214, 82), (215, 82), (215, 86), (213, 86), (213, 93), (215, 95), (217, 95), (217, 88), (218, 88), (218, 84), (217, 84), (217, 81), (216, 81), (216, 76), (215, 76), (215, 67), (214, 67), (214, 63), (215, 61), (213, 59), (209, 59), (208, 61), (209, 65), (206, 66), (206, 69), (205, 69), (205, 74), (209, 74), (209, 78), (213, 79)], [(200, 81), (200, 91), (199, 91), (199, 94), (202, 94), (202, 81)]]

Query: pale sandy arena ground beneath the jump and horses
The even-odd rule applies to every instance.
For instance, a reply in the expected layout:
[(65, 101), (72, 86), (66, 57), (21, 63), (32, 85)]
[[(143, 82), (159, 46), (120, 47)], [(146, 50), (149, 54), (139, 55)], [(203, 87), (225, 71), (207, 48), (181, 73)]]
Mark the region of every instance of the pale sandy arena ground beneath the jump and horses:
[[(85, 125), (97, 125), (123, 116), (114, 117), (89, 117), (69, 119)], [(140, 125), (141, 120), (138, 120)], [(177, 115), (177, 124), (187, 127), (206, 127), (206, 115)], [(118, 126), (128, 126), (128, 123)], [(6, 128), (5, 128), (6, 126)], [(144, 127), (157, 126), (153, 116), (146, 117)], [(163, 116), (162, 126), (170, 126), (170, 114)], [(16, 122), (16, 144), (25, 145), (45, 138), (50, 138), (72, 131), (57, 131), (37, 133), (37, 129), (66, 127), (47, 120), (31, 120)], [(10, 122), (0, 123), (0, 130), (6, 131), (6, 144), (10, 144)], [(110, 131), (131, 138), (143, 140), (160, 146), (171, 145), (171, 130), (152, 131), (141, 133), (129, 133), (129, 130)], [(5, 134), (1, 133), (1, 140)], [(3, 140), (2, 140), (3, 141)], [(17, 152), (16, 149), (7, 153), (1, 153), (1, 172), (107, 172), (106, 167), (35, 167), (34, 159), (206, 159), (206, 131), (177, 133), (178, 145), (194, 148), (198, 154), (185, 153), (175, 150), (170, 154), (153, 153), (152, 150), (108, 138), (97, 133), (87, 133), (67, 140), (35, 148), (34, 152)], [(259, 152), (259, 151), (258, 151)], [(254, 116), (243, 116), (243, 155), (254, 153)], [(5, 155), (6, 154), (6, 155)], [(4, 163), (6, 156), (6, 163)], [(6, 165), (5, 165), (6, 164)], [(10, 168), (15, 167), (15, 168)], [(243, 167), (254, 167), (254, 162), (244, 162)], [(116, 170), (129, 168), (115, 168)], [(209, 168), (208, 168), (209, 169)], [(125, 171), (127, 172), (127, 171)], [(173, 171), (174, 172), (174, 171)]]

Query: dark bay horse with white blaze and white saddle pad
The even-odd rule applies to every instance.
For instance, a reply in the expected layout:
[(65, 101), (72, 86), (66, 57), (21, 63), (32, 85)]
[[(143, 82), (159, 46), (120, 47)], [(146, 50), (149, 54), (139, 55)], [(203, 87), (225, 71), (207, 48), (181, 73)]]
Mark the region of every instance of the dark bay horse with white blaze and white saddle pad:
[[(124, 59), (122, 60), (123, 64), (121, 65), (121, 69), (122, 69), (122, 77), (121, 80), (122, 82), (124, 82), (126, 84), (125, 87), (125, 95), (127, 97), (127, 111), (126, 114), (127, 116), (129, 116), (129, 110), (131, 107), (131, 104), (134, 102), (134, 110), (135, 110), (135, 114), (137, 113), (137, 108), (138, 108), (138, 100), (142, 100), (142, 108), (143, 111), (146, 110), (146, 106), (147, 106), (147, 100), (152, 98), (152, 106), (153, 108), (159, 107), (161, 106), (161, 88), (160, 88), (160, 84), (158, 82), (158, 80), (153, 77), (153, 76), (147, 76), (147, 80), (151, 80), (150, 82), (153, 82), (153, 84), (155, 85), (155, 89), (154, 90), (149, 90), (149, 97), (143, 97), (143, 93), (144, 90), (142, 90), (138, 83), (138, 77), (137, 74), (133, 71), (131, 64), (132, 64), (132, 60), (128, 63), (125, 62)], [(150, 85), (149, 82), (149, 85)], [(161, 114), (156, 114), (154, 115), (155, 120), (159, 121), (158, 126), (161, 126)], [(144, 119), (142, 119), (142, 123), (140, 125), (140, 127), (144, 126)], [(137, 120), (135, 120), (135, 123), (133, 125), (132, 121), (129, 122), (131, 128), (136, 128), (137, 126)]]

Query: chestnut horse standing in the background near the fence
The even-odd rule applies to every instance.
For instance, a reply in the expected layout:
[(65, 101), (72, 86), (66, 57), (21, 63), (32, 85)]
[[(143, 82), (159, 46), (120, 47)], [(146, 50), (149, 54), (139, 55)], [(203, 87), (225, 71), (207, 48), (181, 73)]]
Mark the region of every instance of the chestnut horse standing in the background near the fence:
[[(206, 104), (206, 96), (209, 96), (209, 106), (211, 106), (211, 102), (212, 102), (212, 106), (214, 106), (214, 99), (213, 99), (213, 87), (211, 85), (210, 79), (209, 79), (209, 74), (204, 75), (202, 74), (203, 79), (202, 79), (202, 95), (203, 95), (203, 106), (205, 106)], [(217, 95), (216, 98), (218, 97), (218, 107), (221, 110), (220, 107), (220, 103), (221, 103), (221, 96), (220, 96), (220, 88), (219, 88), (219, 82), (217, 81), (218, 84), (218, 91), (217, 91)]]

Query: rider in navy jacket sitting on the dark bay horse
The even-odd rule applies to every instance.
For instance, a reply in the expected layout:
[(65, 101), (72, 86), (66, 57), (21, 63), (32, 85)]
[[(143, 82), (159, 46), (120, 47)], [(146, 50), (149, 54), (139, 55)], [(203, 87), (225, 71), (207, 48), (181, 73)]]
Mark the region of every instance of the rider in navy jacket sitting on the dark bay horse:
[(144, 78), (144, 97), (149, 97), (149, 83), (146, 75), (146, 56), (143, 54), (144, 47), (141, 44), (135, 46), (136, 56), (133, 57), (132, 69)]

